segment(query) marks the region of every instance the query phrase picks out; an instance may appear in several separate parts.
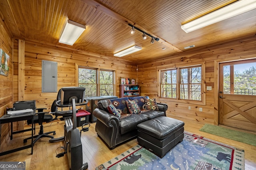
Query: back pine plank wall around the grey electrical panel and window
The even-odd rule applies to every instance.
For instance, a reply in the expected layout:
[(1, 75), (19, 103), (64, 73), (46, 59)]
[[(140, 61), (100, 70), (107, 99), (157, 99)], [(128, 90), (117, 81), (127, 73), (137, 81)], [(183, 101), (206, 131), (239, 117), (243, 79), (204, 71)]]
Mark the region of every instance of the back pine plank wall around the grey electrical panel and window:
[[(19, 42), (14, 40), (14, 51)], [(25, 40), (24, 82), (19, 82), (18, 55), (14, 55), (14, 101), (18, 101), (18, 84), (24, 84), (24, 100), (36, 100), (36, 107), (46, 107), (50, 111), (56, 93), (42, 93), (42, 60), (58, 62), (58, 90), (65, 86), (77, 86), (76, 64), (93, 68), (116, 71), (116, 96), (119, 96), (121, 77), (136, 78), (137, 65), (119, 58), (106, 57), (94, 53), (56, 47), (54, 45)], [(17, 53), (16, 53), (17, 54)]]

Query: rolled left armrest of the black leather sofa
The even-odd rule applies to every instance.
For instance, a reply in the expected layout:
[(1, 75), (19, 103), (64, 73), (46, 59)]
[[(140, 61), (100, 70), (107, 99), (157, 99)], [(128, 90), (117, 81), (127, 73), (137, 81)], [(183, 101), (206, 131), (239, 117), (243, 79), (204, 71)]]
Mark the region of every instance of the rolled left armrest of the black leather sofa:
[(112, 120), (116, 121), (116, 124), (119, 127), (119, 119), (116, 116), (108, 113), (107, 111), (96, 108), (93, 111), (93, 115), (97, 118), (97, 120), (104, 123), (104, 125), (106, 125), (107, 127), (112, 127), (112, 124), (110, 123)]

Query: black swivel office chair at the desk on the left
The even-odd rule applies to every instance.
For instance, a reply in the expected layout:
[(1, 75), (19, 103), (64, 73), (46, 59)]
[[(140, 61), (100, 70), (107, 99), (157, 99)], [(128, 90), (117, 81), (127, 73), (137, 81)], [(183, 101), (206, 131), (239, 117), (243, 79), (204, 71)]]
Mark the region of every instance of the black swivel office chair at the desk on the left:
[[(54, 138), (53, 136), (49, 135), (50, 133), (53, 133), (53, 135), (55, 135), (55, 131), (50, 131), (50, 132), (46, 132), (44, 133), (44, 126), (43, 126), (43, 122), (49, 123), (53, 120), (52, 115), (47, 114), (48, 112), (43, 112), (43, 110), (46, 108), (38, 108), (36, 109), (38, 111), (38, 113), (35, 114), (34, 116), (34, 127), (35, 124), (38, 123), (40, 125), (40, 131), (38, 133), (38, 135), (33, 136), (34, 139), (33, 141), (33, 145), (34, 143), (36, 143), (36, 141), (38, 141), (40, 138), (42, 137), (49, 137), (49, 138)], [(32, 120), (27, 120), (28, 125), (32, 124)], [(28, 137), (26, 139), (23, 140), (24, 143), (26, 143), (28, 141), (28, 139), (32, 139), (32, 137)]]

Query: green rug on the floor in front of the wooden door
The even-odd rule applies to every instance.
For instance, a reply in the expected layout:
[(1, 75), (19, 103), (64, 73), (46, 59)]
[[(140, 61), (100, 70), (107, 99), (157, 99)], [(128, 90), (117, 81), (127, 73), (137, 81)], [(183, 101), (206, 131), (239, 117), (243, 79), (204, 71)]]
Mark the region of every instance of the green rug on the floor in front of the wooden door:
[(200, 131), (256, 146), (256, 135), (235, 131), (225, 127), (205, 124)]

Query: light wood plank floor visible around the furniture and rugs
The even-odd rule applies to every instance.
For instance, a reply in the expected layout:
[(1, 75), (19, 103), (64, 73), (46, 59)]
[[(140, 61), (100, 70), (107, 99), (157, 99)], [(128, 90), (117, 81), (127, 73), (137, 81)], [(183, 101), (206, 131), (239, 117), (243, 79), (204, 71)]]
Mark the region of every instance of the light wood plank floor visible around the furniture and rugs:
[[(237, 141), (232, 141), (223, 137), (218, 137), (208, 133), (199, 131), (203, 124), (198, 122), (191, 122), (186, 119), (180, 119), (185, 123), (185, 131), (194, 133), (208, 139), (213, 139), (234, 147), (245, 150), (246, 170), (256, 170), (256, 147), (247, 145)], [(82, 132), (82, 148), (83, 148), (83, 160), (88, 162), (88, 170), (95, 170), (96, 166), (107, 162), (115, 156), (125, 152), (126, 150), (134, 147), (138, 144), (137, 139), (128, 141), (122, 145), (119, 145), (114, 150), (108, 149), (106, 145), (100, 140), (95, 132), (95, 124), (90, 123), (89, 131)], [(44, 125), (44, 132), (56, 131), (55, 137), (61, 137), (64, 135), (64, 121), (54, 121), (52, 124), (47, 123)], [(39, 128), (39, 127), (38, 127)], [(78, 127), (81, 128), (81, 127)], [(39, 129), (36, 130), (38, 133)], [(31, 132), (25, 132), (21, 134), (15, 134), (14, 139), (9, 142), (8, 146), (24, 145), (23, 139), (29, 137)], [(28, 141), (29, 143), (30, 141)], [(26, 170), (68, 170), (68, 159), (65, 156), (56, 158), (56, 152), (63, 152), (59, 147), (64, 146), (63, 142), (49, 143), (48, 138), (40, 139), (34, 145), (34, 153), (31, 155), (31, 149), (25, 149), (4, 156), (0, 156), (0, 161), (25, 161)], [(1, 148), (2, 149), (2, 148)], [(13, 149), (13, 148), (12, 148)], [(7, 150), (7, 149), (4, 149)]]

